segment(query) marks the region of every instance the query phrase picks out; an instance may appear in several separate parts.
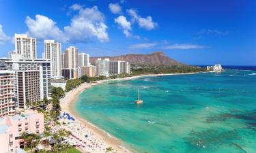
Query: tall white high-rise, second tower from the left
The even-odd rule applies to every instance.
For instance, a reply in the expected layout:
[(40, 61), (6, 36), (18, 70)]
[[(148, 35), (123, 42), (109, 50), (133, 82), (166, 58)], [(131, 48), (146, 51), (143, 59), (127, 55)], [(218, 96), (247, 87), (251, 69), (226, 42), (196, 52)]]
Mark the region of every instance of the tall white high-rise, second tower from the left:
[(54, 40), (44, 40), (44, 59), (51, 60), (51, 75), (61, 77), (61, 44)]

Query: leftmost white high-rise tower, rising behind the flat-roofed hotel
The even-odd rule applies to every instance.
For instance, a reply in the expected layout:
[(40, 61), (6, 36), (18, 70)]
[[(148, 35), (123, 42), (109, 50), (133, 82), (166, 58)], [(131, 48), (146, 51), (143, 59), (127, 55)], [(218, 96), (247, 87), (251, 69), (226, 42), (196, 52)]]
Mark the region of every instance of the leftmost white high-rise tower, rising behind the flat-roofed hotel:
[[(23, 58), (37, 58), (36, 39), (26, 34), (15, 34), (14, 54), (21, 54)], [(12, 53), (13, 54), (13, 53)]]

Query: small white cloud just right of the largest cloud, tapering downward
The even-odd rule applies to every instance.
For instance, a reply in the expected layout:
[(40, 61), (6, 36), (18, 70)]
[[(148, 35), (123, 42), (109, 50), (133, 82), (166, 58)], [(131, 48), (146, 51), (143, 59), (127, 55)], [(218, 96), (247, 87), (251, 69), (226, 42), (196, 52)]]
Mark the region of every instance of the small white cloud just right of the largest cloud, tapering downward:
[(126, 37), (131, 36), (130, 31), (132, 30), (131, 28), (132, 24), (128, 20), (126, 20), (125, 16), (119, 16), (115, 18), (115, 22), (119, 25), (119, 27), (123, 29), (124, 35), (126, 35)]

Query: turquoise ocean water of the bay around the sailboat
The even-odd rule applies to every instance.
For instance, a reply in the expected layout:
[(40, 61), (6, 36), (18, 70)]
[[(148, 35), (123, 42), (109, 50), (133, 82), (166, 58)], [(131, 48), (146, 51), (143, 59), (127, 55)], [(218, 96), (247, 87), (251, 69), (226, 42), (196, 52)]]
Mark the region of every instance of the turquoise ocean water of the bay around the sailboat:
[(74, 109), (136, 152), (256, 152), (256, 71), (109, 82)]

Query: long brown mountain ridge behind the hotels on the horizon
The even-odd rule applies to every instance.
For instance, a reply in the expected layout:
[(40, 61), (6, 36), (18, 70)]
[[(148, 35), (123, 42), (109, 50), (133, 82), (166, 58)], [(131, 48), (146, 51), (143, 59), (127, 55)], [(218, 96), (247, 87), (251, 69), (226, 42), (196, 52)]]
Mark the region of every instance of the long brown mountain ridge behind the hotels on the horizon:
[(121, 56), (91, 57), (91, 64), (95, 64), (97, 58), (109, 58), (110, 61), (128, 61), (131, 65), (183, 65), (165, 55), (164, 52), (153, 52), (152, 54), (126, 54)]

